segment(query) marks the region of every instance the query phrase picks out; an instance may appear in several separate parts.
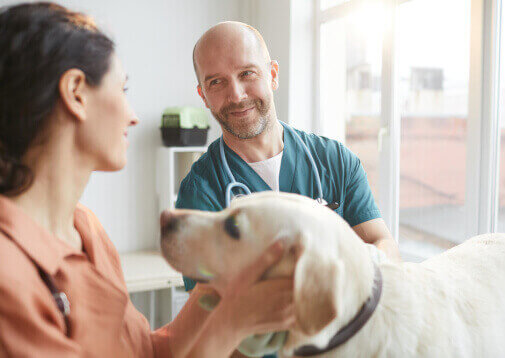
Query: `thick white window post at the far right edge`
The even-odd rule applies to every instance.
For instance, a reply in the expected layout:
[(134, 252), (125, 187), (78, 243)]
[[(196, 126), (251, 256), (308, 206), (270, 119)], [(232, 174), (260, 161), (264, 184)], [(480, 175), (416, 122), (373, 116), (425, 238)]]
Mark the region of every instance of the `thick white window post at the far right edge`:
[[(467, 236), (496, 232), (501, 0), (472, 0), (467, 138)], [(474, 149), (474, 150), (470, 150)]]

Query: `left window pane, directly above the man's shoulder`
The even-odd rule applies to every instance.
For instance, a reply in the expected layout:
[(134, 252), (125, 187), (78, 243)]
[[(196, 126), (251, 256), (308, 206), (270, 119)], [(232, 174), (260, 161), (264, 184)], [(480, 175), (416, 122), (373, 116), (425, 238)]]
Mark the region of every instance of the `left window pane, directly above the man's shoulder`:
[(358, 155), (378, 197), (381, 115), (381, 5), (355, 7), (321, 24), (320, 128)]

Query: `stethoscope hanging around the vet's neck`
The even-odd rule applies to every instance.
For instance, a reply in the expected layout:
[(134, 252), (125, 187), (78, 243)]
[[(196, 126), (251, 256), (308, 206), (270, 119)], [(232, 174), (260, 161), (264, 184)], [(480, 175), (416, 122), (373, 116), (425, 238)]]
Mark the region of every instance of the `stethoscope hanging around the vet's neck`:
[[(302, 145), (303, 150), (305, 151), (305, 154), (307, 154), (307, 157), (309, 158), (310, 165), (312, 166), (312, 171), (314, 172), (314, 176), (316, 178), (316, 184), (317, 184), (317, 194), (318, 194), (318, 197), (317, 197), (316, 201), (319, 204), (325, 205), (325, 206), (329, 207), (332, 210), (337, 209), (338, 206), (339, 206), (339, 204), (337, 202), (328, 204), (326, 202), (326, 200), (323, 199), (323, 189), (322, 189), (322, 185), (321, 185), (321, 178), (319, 178), (319, 170), (317, 170), (316, 162), (314, 161), (314, 158), (312, 157), (312, 154), (310, 154), (309, 148), (307, 147), (307, 145), (305, 144), (305, 142), (302, 140), (302, 138), (300, 138), (300, 136), (298, 135), (298, 133), (296, 133), (295, 131), (293, 131), (293, 134), (296, 136), (296, 138), (298, 139), (298, 141)], [(247, 187), (247, 185), (245, 185), (243, 183), (240, 183), (240, 182), (238, 182), (238, 181), (235, 180), (235, 177), (233, 176), (233, 173), (230, 170), (230, 166), (228, 165), (228, 161), (226, 160), (226, 156), (224, 155), (224, 140), (223, 140), (223, 136), (221, 136), (221, 138), (219, 140), (219, 153), (221, 155), (221, 162), (223, 163), (224, 170), (225, 170), (226, 174), (228, 175), (228, 178), (230, 179), (230, 184), (228, 184), (226, 186), (226, 193), (225, 193), (226, 207), (229, 207), (230, 203), (231, 203), (231, 199), (232, 199), (231, 196), (233, 194), (232, 190), (234, 188), (241, 188), (242, 190), (244, 190), (245, 195), (251, 194), (251, 190)]]

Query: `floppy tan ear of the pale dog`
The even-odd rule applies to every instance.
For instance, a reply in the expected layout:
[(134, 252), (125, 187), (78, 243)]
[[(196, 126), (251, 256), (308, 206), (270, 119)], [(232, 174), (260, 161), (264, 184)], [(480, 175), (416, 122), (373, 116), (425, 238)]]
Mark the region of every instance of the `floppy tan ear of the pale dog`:
[(294, 250), (298, 256), (294, 277), (296, 321), (304, 334), (312, 336), (342, 313), (343, 264), (299, 244)]

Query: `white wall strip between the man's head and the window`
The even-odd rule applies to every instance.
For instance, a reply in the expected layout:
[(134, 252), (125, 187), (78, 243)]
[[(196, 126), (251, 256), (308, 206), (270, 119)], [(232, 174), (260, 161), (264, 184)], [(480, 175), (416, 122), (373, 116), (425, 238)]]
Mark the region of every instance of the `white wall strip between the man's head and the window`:
[(252, 0), (251, 25), (279, 62), (277, 116), (296, 128), (314, 128), (314, 3), (311, 0)]

